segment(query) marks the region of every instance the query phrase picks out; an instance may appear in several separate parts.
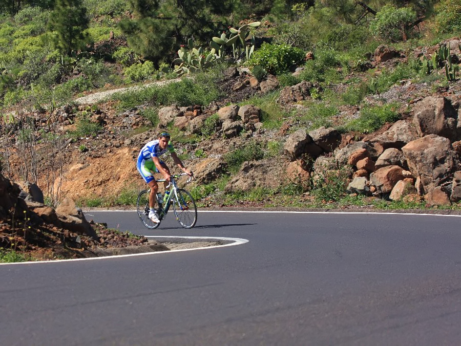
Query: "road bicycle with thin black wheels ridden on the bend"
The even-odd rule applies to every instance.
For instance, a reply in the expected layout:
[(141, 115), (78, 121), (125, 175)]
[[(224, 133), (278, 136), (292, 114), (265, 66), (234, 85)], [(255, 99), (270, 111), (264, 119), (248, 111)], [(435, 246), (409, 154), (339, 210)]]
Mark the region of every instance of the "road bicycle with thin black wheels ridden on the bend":
[[(175, 174), (171, 176), (170, 184), (165, 187), (165, 196), (163, 203), (158, 203), (158, 209), (156, 209), (158, 219), (160, 222), (166, 217), (166, 213), (173, 205), (173, 212), (175, 213), (176, 220), (184, 228), (192, 228), (197, 222), (197, 206), (192, 198), (192, 195), (186, 190), (179, 188), (176, 179), (181, 176), (186, 176), (186, 173)], [(192, 181), (191, 176), (187, 179), (186, 183)], [(164, 182), (165, 179), (157, 180), (157, 182)], [(136, 209), (138, 211), (139, 219), (145, 227), (149, 229), (155, 229), (160, 226), (160, 222), (156, 224), (149, 219), (149, 194), (151, 189), (145, 189), (139, 192), (138, 199), (136, 201)], [(158, 201), (157, 201), (158, 202)]]

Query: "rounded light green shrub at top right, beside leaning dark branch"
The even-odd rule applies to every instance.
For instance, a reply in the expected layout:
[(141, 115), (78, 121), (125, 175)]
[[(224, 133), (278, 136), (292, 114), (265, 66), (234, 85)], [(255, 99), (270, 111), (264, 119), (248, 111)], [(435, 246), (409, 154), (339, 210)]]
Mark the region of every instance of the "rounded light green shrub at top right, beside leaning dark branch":
[(397, 42), (406, 35), (403, 28), (413, 23), (415, 19), (416, 13), (409, 8), (385, 5), (376, 13), (370, 30), (375, 37)]

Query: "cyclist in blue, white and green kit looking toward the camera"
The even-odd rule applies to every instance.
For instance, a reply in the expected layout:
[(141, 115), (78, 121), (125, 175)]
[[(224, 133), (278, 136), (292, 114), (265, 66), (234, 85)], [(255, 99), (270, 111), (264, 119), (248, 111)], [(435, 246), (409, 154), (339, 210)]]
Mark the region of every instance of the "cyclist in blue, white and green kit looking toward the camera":
[(158, 139), (146, 143), (138, 155), (138, 171), (144, 181), (151, 188), (151, 192), (149, 194), (149, 207), (151, 209), (149, 211), (149, 219), (156, 224), (158, 224), (160, 220), (155, 212), (155, 197), (158, 191), (158, 184), (154, 178), (154, 173), (161, 173), (163, 175), (165, 178), (165, 186), (169, 184), (171, 176), (170, 168), (168, 168), (163, 161), (160, 161), (159, 157), (166, 152), (169, 152), (174, 163), (178, 165), (178, 167), (181, 168), (188, 176), (192, 175), (192, 173), (184, 167), (181, 160), (176, 155), (175, 149), (170, 142), (170, 138), (171, 136), (169, 133), (162, 132), (158, 136)]

